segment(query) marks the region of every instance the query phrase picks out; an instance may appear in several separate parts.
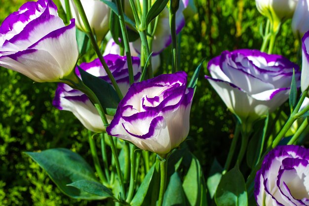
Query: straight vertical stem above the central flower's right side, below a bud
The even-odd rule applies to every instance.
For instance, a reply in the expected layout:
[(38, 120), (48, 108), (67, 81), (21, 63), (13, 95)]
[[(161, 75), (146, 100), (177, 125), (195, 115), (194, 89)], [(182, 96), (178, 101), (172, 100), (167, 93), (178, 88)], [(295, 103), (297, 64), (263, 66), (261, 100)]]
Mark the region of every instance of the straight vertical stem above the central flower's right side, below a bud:
[(170, 8), (169, 10), (169, 25), (171, 30), (171, 37), (172, 37), (172, 52), (173, 52), (173, 59), (172, 59), (172, 73), (178, 71), (177, 68), (177, 36), (176, 36), (176, 11)]

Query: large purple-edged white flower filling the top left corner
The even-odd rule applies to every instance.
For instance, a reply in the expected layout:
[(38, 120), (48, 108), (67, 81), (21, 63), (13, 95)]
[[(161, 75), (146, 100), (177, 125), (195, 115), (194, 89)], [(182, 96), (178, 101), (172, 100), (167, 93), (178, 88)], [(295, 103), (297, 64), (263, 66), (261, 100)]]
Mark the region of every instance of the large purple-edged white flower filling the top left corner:
[(36, 82), (60, 82), (77, 57), (75, 20), (65, 26), (51, 0), (26, 2), (0, 26), (0, 66)]

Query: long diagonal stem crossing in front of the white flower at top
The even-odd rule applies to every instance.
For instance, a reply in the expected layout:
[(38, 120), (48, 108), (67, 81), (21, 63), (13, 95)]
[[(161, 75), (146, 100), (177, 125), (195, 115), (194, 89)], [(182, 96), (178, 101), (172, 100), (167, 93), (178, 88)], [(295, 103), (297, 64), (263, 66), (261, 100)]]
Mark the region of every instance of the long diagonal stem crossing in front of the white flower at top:
[(109, 67), (107, 66), (107, 64), (106, 64), (106, 62), (105, 62), (105, 60), (104, 60), (104, 58), (103, 58), (103, 56), (101, 54), (100, 48), (99, 48), (99, 46), (98, 46), (98, 44), (97, 44), (97, 42), (95, 40), (95, 37), (94, 37), (93, 32), (91, 30), (90, 24), (89, 24), (89, 22), (87, 20), (87, 16), (86, 16), (86, 13), (85, 13), (85, 11), (84, 11), (84, 9), (82, 7), (82, 4), (81, 4), (80, 0), (74, 0), (74, 3), (76, 5), (76, 7), (77, 7), (78, 13), (79, 13), (79, 15), (80, 15), (80, 17), (82, 19), (82, 22), (83, 22), (83, 24), (85, 26), (85, 29), (87, 31), (87, 34), (88, 34), (89, 39), (91, 41), (91, 44), (92, 44), (92, 46), (94, 48), (94, 51), (96, 52), (96, 54), (97, 54), (97, 56), (98, 56), (98, 58), (99, 58), (99, 60), (100, 60), (100, 62), (102, 64), (105, 72), (107, 73), (108, 77), (110, 78), (110, 80), (111, 80), (111, 82), (112, 82), (112, 84), (113, 84), (113, 86), (114, 86), (114, 88), (116, 90), (117, 95), (119, 96), (120, 99), (122, 99), (123, 95), (121, 93), (121, 90), (119, 89), (119, 86), (118, 86), (118, 84), (117, 84), (113, 74), (111, 73)]

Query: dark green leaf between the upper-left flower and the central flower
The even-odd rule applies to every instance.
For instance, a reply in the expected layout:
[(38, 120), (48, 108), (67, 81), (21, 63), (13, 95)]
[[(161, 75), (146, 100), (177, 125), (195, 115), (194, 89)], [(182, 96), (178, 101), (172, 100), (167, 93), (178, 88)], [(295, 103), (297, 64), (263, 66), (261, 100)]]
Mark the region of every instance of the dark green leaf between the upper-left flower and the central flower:
[(105, 114), (112, 115), (108, 112), (113, 111), (113, 110), (107, 109), (107, 108), (116, 109), (118, 106), (118, 103), (120, 102), (120, 99), (114, 87), (110, 83), (102, 80), (101, 78), (95, 77), (89, 74), (88, 72), (85, 72), (79, 66), (77, 67), (78, 67), (82, 82), (84, 82), (84, 84), (88, 86), (98, 97), (104, 109)]

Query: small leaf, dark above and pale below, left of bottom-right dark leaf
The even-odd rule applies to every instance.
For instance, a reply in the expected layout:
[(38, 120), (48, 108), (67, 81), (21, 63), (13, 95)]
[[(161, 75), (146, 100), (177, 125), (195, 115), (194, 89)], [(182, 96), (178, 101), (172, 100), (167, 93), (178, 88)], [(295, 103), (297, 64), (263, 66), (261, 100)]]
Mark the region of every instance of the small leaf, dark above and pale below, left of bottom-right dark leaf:
[(219, 164), (219, 162), (215, 158), (214, 162), (210, 167), (209, 175), (207, 178), (207, 188), (211, 199), (214, 197), (217, 187), (220, 183), (222, 177), (222, 171), (223, 167)]

